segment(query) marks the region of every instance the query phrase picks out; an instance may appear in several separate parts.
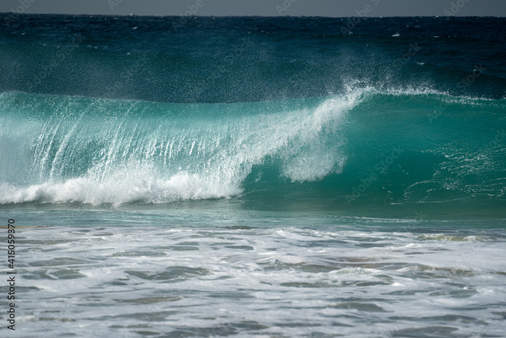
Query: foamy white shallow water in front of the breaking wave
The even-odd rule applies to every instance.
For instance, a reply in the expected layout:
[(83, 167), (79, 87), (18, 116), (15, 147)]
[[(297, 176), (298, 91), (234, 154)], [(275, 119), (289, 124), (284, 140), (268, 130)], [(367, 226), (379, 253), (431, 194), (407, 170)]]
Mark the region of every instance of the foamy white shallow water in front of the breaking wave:
[(16, 336), (499, 337), (505, 328), (504, 219), (0, 212), (14, 216)]

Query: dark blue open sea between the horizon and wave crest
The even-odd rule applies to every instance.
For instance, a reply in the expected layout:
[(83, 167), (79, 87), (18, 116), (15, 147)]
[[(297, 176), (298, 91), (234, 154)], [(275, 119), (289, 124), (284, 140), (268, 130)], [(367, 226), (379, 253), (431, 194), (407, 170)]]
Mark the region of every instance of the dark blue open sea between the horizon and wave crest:
[[(350, 86), (505, 94), (504, 18), (363, 18), (346, 34), (347, 18), (194, 17), (177, 31), (176, 19), (20, 16), (1, 28), (0, 90), (182, 103)], [(476, 65), (472, 86), (457, 85)]]

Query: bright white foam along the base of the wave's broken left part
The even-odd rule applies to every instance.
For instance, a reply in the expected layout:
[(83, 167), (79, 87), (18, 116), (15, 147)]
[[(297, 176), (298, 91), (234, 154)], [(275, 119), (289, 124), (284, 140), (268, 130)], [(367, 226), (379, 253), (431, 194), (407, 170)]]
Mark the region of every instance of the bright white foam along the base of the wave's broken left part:
[(207, 182), (197, 174), (182, 172), (163, 179), (153, 176), (149, 168), (142, 168), (113, 172), (102, 181), (88, 176), (28, 187), (3, 183), (0, 185), (0, 203), (39, 201), (121, 205), (135, 201), (165, 203), (176, 200), (212, 199), (239, 193), (238, 188)]

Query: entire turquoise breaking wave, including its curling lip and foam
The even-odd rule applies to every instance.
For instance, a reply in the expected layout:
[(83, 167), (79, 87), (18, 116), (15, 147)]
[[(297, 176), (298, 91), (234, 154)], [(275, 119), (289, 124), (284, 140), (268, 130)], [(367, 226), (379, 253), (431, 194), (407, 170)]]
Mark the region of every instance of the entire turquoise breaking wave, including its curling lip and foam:
[(0, 203), (505, 201), (506, 100), (373, 89), (248, 103), (0, 95)]

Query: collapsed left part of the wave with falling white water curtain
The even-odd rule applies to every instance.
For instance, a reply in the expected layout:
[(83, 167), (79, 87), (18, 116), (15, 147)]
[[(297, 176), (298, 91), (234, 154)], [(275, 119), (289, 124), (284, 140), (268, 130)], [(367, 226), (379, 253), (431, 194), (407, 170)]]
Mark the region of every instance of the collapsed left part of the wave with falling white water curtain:
[(322, 179), (343, 170), (342, 125), (355, 99), (170, 104), (3, 94), (0, 201), (229, 197), (266, 162), (293, 181)]

